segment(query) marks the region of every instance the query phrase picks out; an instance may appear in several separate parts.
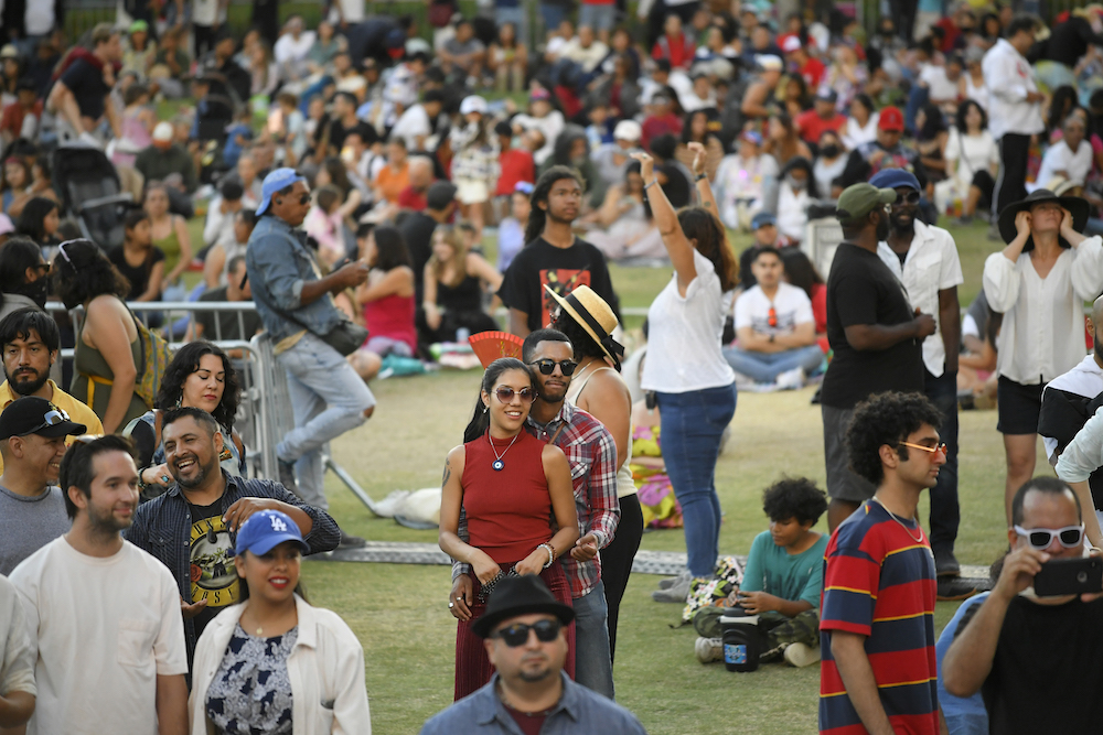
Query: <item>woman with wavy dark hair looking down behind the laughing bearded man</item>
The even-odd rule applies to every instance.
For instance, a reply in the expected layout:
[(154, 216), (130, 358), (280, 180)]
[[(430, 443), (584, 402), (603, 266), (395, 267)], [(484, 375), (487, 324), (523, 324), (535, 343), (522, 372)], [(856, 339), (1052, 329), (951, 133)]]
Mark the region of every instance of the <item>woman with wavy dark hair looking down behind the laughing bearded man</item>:
[(164, 464), (161, 414), (178, 408), (203, 409), (222, 426), (222, 456), (218, 463), (231, 475), (244, 476), (245, 443), (234, 429), (242, 387), (229, 356), (210, 342), (192, 342), (173, 355), (161, 376), (157, 408), (131, 421), (124, 433), (138, 445), (138, 486), (142, 499), (156, 497), (172, 484)]

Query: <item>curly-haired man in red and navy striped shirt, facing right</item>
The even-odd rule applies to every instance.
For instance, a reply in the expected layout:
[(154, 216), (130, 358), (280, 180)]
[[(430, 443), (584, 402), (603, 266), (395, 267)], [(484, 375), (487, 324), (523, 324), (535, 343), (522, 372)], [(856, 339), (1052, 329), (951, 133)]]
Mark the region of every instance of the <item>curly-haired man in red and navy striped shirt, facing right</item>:
[(915, 517), (946, 462), (942, 414), (923, 394), (859, 403), (850, 467), (874, 497), (832, 534), (821, 604), (820, 732), (939, 732), (934, 554)]

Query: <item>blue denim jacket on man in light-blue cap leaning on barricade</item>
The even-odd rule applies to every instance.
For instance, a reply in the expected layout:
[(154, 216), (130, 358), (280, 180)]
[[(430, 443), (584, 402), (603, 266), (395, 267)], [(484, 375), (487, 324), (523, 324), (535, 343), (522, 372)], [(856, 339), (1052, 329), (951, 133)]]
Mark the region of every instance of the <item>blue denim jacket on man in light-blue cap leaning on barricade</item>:
[(249, 237), (245, 264), (257, 313), (275, 342), (303, 328), (325, 335), (342, 321), (328, 293), (313, 303), (302, 303), (303, 284), (321, 279), (321, 273), (307, 248), (307, 234), (291, 229), (279, 217), (260, 217)]

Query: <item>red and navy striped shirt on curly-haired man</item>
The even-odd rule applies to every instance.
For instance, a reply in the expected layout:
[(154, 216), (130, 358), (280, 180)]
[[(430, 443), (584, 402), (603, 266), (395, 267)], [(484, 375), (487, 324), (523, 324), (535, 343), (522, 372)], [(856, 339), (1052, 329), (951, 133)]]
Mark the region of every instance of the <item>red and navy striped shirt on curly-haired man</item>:
[(834, 630), (866, 636), (878, 694), (897, 733), (939, 732), (935, 588), (934, 555), (918, 523), (897, 522), (867, 500), (835, 529), (820, 605), (822, 734), (866, 733), (832, 657)]

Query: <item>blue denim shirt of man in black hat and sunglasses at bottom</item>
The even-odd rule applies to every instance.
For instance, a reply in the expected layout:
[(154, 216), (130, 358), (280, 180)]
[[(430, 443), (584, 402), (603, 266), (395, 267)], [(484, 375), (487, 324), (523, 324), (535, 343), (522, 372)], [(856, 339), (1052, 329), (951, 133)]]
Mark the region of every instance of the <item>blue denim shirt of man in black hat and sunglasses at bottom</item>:
[[(563, 696), (548, 712), (540, 735), (646, 735), (635, 716), (617, 704), (576, 684), (567, 674), (563, 679)], [(479, 691), (463, 698), (425, 723), (421, 735), (524, 735), (516, 721), (497, 696), (497, 674)]]

